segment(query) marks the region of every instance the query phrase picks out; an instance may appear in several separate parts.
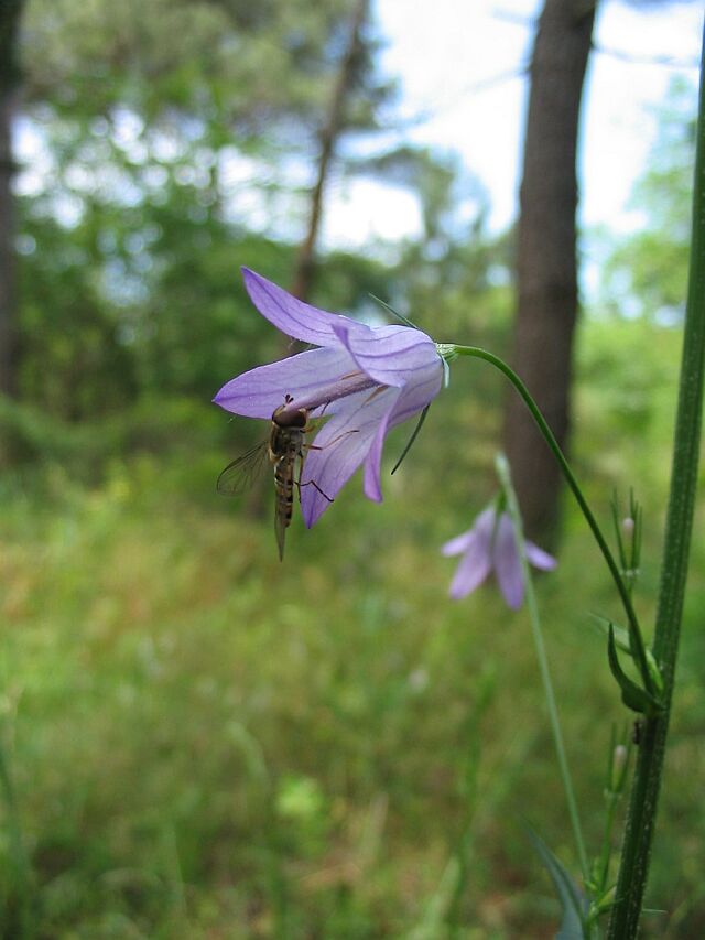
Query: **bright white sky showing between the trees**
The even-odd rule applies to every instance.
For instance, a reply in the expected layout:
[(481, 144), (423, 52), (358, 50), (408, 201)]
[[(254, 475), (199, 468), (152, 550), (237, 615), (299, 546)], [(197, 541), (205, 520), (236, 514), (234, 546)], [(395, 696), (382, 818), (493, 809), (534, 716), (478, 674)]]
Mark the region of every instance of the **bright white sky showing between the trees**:
[[(408, 133), (417, 144), (457, 154), (489, 191), (490, 228), (517, 214), (528, 62), (539, 0), (376, 0), (387, 41), (383, 72), (400, 85), (402, 117), (424, 115)], [(675, 75), (697, 84), (699, 2), (603, 0), (583, 99), (578, 180), (583, 225), (633, 230), (630, 194), (647, 168), (654, 108)], [(663, 60), (683, 64), (666, 65)], [(403, 191), (335, 181), (323, 240), (359, 246), (413, 235), (419, 206)]]

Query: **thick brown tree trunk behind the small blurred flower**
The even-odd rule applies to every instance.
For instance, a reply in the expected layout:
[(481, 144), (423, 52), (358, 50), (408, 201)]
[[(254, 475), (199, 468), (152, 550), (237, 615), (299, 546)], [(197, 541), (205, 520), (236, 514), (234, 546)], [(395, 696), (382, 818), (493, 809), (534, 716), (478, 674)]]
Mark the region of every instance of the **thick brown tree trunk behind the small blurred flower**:
[[(513, 366), (562, 447), (577, 316), (577, 130), (595, 7), (595, 0), (544, 2), (531, 62), (520, 191)], [(516, 396), (508, 400), (505, 447), (527, 532), (551, 541), (560, 473)]]

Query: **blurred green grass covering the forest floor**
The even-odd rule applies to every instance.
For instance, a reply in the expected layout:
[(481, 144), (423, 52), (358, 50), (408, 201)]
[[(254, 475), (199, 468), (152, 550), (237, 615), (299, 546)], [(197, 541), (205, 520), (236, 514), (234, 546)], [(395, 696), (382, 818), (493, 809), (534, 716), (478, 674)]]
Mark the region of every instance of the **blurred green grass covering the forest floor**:
[[(650, 624), (672, 375), (653, 408), (632, 388), (649, 375), (626, 377), (642, 409), (632, 420), (608, 408), (614, 375), (603, 386), (590, 371), (603, 347), (596, 327), (577, 466), (603, 519), (615, 484), (646, 480), (638, 606)], [(115, 460), (93, 485), (56, 465), (4, 474), (0, 715), (37, 936), (555, 930), (522, 819), (576, 865), (525, 613), (510, 614), (491, 587), (452, 604), (453, 561), (437, 552), (491, 493), (497, 417), (471, 399), (437, 408), (386, 480), (384, 504), (355, 482), (311, 532), (295, 521), (284, 564), (269, 518), (213, 494), (227, 461), (213, 449)], [(390, 458), (402, 444), (403, 434)], [(618, 608), (566, 510), (561, 564), (538, 591), (596, 853), (611, 726), (630, 717), (588, 616)], [(648, 918), (644, 936), (705, 930), (704, 554), (696, 537), (649, 896), (669, 917)], [(14, 898), (2, 872), (7, 933)]]

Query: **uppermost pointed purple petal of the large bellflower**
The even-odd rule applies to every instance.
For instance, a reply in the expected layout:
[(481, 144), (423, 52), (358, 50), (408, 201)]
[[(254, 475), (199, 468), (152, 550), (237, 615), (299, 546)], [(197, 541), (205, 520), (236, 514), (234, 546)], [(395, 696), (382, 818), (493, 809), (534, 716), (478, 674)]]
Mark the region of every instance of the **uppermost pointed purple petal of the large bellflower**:
[(344, 325), (351, 332), (367, 329), (362, 323), (348, 316), (328, 313), (300, 301), (249, 268), (242, 268), (242, 277), (247, 292), (262, 316), (295, 339), (312, 343), (314, 346), (339, 346), (335, 334), (337, 325)]

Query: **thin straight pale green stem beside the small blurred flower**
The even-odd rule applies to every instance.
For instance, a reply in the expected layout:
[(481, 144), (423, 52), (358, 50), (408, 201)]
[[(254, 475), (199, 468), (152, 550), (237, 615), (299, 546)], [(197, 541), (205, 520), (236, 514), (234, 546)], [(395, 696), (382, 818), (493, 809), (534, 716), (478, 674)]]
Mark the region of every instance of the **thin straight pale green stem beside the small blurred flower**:
[(539, 660), (539, 671), (541, 672), (543, 693), (546, 699), (546, 709), (549, 711), (549, 721), (551, 723), (551, 731), (553, 733), (553, 743), (555, 745), (558, 768), (561, 771), (561, 778), (563, 780), (563, 789), (565, 791), (565, 800), (568, 807), (568, 815), (571, 817), (571, 825), (573, 826), (573, 838), (575, 839), (575, 847), (577, 850), (577, 856), (581, 863), (581, 869), (583, 872), (583, 882), (587, 884), (587, 880), (589, 878), (589, 863), (587, 860), (587, 852), (585, 851), (585, 842), (583, 840), (583, 831), (581, 829), (581, 820), (577, 812), (577, 802), (575, 800), (575, 791), (573, 790), (571, 771), (568, 770), (568, 763), (565, 756), (565, 745), (563, 743), (563, 733), (561, 731), (561, 722), (558, 720), (558, 709), (555, 701), (555, 693), (553, 691), (551, 671), (549, 669), (549, 658), (546, 656), (546, 648), (543, 641), (543, 631), (541, 629), (541, 619), (539, 617), (536, 595), (533, 590), (531, 571), (529, 570), (529, 562), (527, 560), (527, 549), (524, 544), (521, 514), (519, 511), (519, 505), (517, 503), (517, 495), (511, 483), (511, 474), (509, 472), (509, 464), (507, 462), (507, 457), (505, 457), (503, 454), (498, 454), (495, 460), (495, 465), (497, 467), (497, 474), (501, 482), (502, 490), (507, 499), (507, 510), (509, 511), (511, 520), (514, 523), (514, 531), (517, 532), (519, 559), (521, 561), (521, 570), (527, 592), (527, 609), (529, 611), (531, 633), (533, 636), (534, 647), (536, 649), (536, 659)]

